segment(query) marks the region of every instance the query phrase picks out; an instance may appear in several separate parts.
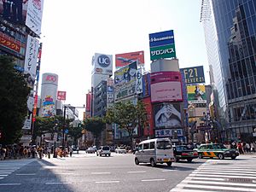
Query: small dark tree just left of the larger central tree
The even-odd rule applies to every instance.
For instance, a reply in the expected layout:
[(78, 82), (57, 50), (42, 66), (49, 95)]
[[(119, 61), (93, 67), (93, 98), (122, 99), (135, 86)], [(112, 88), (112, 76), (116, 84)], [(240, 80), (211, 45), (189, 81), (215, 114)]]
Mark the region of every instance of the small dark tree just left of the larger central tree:
[(102, 131), (106, 129), (105, 119), (100, 117), (87, 118), (84, 120), (84, 129), (90, 131), (96, 138), (96, 144), (98, 143), (98, 137)]

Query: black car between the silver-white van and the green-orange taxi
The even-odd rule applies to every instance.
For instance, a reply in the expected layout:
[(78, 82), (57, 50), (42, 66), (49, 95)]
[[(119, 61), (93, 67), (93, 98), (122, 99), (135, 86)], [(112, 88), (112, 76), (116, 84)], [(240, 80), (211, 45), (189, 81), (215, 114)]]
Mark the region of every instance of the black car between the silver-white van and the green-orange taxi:
[(188, 160), (188, 162), (191, 162), (193, 159), (198, 158), (197, 151), (195, 149), (188, 148), (186, 145), (173, 146), (173, 154), (176, 162), (178, 160)]

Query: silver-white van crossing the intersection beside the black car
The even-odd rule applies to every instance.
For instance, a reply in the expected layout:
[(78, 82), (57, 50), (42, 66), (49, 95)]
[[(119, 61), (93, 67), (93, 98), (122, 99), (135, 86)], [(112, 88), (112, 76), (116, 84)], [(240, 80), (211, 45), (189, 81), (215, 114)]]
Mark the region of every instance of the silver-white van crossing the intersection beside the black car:
[(148, 139), (139, 143), (135, 153), (135, 164), (150, 163), (155, 166), (157, 163), (166, 163), (172, 166), (174, 161), (172, 142), (169, 138)]

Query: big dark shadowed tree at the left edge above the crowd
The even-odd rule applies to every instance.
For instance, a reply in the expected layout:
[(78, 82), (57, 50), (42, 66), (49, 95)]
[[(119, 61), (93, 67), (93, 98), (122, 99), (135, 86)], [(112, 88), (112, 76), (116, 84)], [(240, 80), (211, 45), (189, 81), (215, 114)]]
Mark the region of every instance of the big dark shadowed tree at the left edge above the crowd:
[(15, 70), (13, 61), (9, 56), (0, 56), (0, 143), (3, 144), (19, 141), (30, 93), (23, 73)]

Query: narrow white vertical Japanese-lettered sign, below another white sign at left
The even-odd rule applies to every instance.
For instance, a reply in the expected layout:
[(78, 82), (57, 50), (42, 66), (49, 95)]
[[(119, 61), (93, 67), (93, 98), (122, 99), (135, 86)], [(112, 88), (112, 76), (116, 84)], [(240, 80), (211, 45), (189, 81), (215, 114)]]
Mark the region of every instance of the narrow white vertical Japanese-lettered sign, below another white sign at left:
[(34, 85), (37, 76), (38, 48), (38, 39), (32, 38), (32, 36), (28, 35), (26, 43), (24, 74), (26, 77), (26, 82), (31, 88)]

